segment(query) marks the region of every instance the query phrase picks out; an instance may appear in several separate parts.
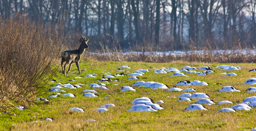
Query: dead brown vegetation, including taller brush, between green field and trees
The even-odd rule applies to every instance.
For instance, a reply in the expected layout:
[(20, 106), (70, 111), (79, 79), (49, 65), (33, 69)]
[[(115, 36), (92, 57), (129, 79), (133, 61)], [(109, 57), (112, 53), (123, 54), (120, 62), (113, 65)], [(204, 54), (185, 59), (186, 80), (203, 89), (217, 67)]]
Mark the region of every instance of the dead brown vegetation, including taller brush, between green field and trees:
[[(167, 45), (164, 45), (164, 47)], [(111, 48), (110, 48), (111, 47)], [(88, 51), (84, 55), (85, 59), (99, 61), (142, 61), (142, 62), (218, 62), (218, 63), (242, 63), (256, 62), (254, 51), (250, 49), (236, 48), (233, 50), (213, 50), (206, 49), (196, 50), (190, 48), (189, 51), (183, 54), (176, 54), (173, 51), (166, 51), (165, 48), (154, 49), (153, 44), (144, 44), (144, 46), (131, 47), (128, 53), (124, 53), (119, 48), (120, 45), (113, 44), (102, 45), (101, 48)]]

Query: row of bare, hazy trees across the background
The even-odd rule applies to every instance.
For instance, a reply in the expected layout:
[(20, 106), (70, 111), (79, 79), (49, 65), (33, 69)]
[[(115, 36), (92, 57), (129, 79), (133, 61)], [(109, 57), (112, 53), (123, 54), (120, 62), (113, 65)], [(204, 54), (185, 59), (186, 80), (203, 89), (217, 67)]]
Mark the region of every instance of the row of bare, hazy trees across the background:
[(91, 42), (168, 50), (254, 48), (255, 0), (4, 0), (2, 18), (17, 13)]

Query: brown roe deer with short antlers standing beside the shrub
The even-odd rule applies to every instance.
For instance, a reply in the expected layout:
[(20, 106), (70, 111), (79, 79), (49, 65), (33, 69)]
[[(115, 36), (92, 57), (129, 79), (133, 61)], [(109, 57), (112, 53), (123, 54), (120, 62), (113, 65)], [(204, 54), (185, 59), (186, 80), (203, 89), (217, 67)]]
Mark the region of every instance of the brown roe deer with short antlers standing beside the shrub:
[[(85, 51), (85, 49), (89, 48), (89, 46), (87, 45), (87, 42), (89, 41), (89, 39), (86, 40), (86, 38), (83, 37), (82, 35), (81, 35), (81, 37), (82, 37), (80, 39), (81, 45), (79, 46), (79, 48), (77, 50), (66, 50), (66, 51), (63, 51), (63, 53), (61, 53), (62, 73), (65, 74), (65, 76), (67, 76), (73, 63), (76, 63), (76, 67), (77, 67), (79, 73), (81, 74), (80, 67), (79, 67), (78, 63), (79, 63), (81, 56), (82, 56), (83, 52)], [(63, 67), (63, 62), (65, 62), (65, 61), (66, 61), (66, 63)], [(67, 74), (66, 74), (66, 66), (67, 65), (70, 65), (70, 67), (68, 67)]]

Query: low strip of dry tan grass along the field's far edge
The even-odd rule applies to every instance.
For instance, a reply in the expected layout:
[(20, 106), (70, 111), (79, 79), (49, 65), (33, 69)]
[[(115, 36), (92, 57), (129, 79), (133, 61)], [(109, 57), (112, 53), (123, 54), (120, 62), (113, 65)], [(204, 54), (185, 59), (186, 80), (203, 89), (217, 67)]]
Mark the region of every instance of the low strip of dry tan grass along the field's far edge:
[[(114, 53), (113, 53), (114, 52)], [(205, 50), (203, 54), (191, 51), (187, 54), (171, 54), (168, 52), (157, 54), (154, 51), (151, 52), (130, 52), (128, 54), (122, 54), (115, 51), (108, 51), (108, 53), (88, 53), (84, 56), (85, 59), (92, 59), (98, 61), (142, 61), (142, 62), (173, 62), (173, 61), (186, 61), (186, 62), (218, 62), (218, 63), (253, 63), (256, 62), (255, 53), (247, 51), (247, 53), (241, 53), (242, 50), (232, 50), (224, 53), (213, 53), (211, 50)]]

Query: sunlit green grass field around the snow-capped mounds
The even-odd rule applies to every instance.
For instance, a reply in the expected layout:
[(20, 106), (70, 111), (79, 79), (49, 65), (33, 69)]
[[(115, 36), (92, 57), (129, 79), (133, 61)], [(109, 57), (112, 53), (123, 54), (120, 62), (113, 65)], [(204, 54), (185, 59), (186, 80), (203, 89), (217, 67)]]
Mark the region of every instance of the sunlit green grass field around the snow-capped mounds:
[[(124, 74), (130, 74), (138, 69), (149, 69), (145, 75), (139, 76), (139, 80), (127, 80), (130, 76), (120, 76), (112, 78), (118, 79), (118, 82), (109, 82), (106, 86), (109, 90), (96, 89), (98, 97), (83, 97), (82, 91), (93, 89), (89, 86), (82, 86), (77, 89), (62, 88), (66, 93), (73, 93), (77, 97), (57, 97), (48, 98), (55, 93), (48, 92), (49, 88), (56, 86), (57, 82), (65, 83), (82, 83), (89, 85), (90, 83), (98, 83), (102, 75), (106, 72), (115, 75), (120, 73), (116, 71), (121, 66), (129, 66), (131, 69), (124, 69)], [(177, 76), (170, 77), (173, 72), (168, 74), (154, 74), (154, 70), (161, 67), (174, 67), (181, 69), (184, 66), (193, 66), (200, 68), (202, 66), (213, 67), (215, 71), (206, 76), (196, 76), (194, 74), (186, 74), (189, 77)], [(239, 71), (223, 71), (215, 69), (216, 66), (231, 65), (242, 67)], [(13, 108), (12, 111), (1, 113), (2, 123), (0, 130), (252, 130), (256, 127), (256, 115), (254, 108), (250, 111), (237, 111), (232, 113), (216, 113), (221, 108), (231, 108), (235, 104), (241, 103), (244, 98), (256, 96), (255, 93), (245, 91), (253, 85), (242, 85), (248, 78), (255, 77), (256, 72), (248, 72), (255, 69), (256, 64), (208, 64), (208, 63), (189, 63), (189, 62), (170, 62), (170, 63), (147, 63), (147, 62), (99, 62), (99, 61), (81, 61), (80, 68), (82, 74), (78, 74), (76, 66), (73, 65), (68, 77), (61, 74), (59, 65), (57, 74), (53, 77), (56, 82), (49, 82), (45, 88), (45, 93), (37, 98), (49, 99), (48, 104), (33, 104), (27, 106), (27, 109), (19, 111)], [(221, 72), (235, 72), (238, 76), (224, 76)], [(86, 78), (88, 74), (97, 74), (96, 78)], [(80, 76), (82, 78), (75, 78)], [(76, 81), (70, 81), (75, 79)], [(136, 81), (155, 81), (164, 83), (173, 87), (181, 80), (199, 80), (208, 82), (208, 86), (177, 86), (185, 90), (186, 88), (194, 88), (196, 92), (207, 93), (210, 99), (215, 103), (228, 100), (233, 104), (213, 104), (204, 105), (208, 111), (185, 111), (190, 104), (195, 103), (198, 99), (191, 99), (190, 102), (178, 102), (177, 98), (184, 92), (170, 92), (166, 89), (152, 90), (146, 87), (134, 87), (135, 92), (120, 92), (122, 86), (131, 86)], [(223, 85), (215, 85), (215, 83)], [(118, 84), (118, 85), (116, 85)], [(218, 92), (223, 86), (234, 86), (241, 92)], [(191, 92), (189, 92), (191, 93)], [(192, 92), (193, 94), (193, 92)], [(105, 97), (105, 95), (110, 95)], [(166, 98), (168, 97), (169, 98)], [(135, 98), (149, 97), (154, 102), (163, 100), (160, 105), (164, 108), (157, 112), (127, 112), (133, 105), (131, 101)], [(41, 102), (42, 103), (42, 102)], [(104, 104), (112, 103), (115, 107), (110, 107), (109, 111), (100, 113), (93, 111), (100, 108)], [(21, 106), (25, 106), (19, 103)], [(18, 105), (17, 105), (18, 106)], [(68, 109), (72, 107), (85, 107), (84, 113), (70, 113)], [(53, 118), (52, 122), (44, 120), (45, 118)], [(95, 119), (93, 121), (85, 121), (87, 119)], [(42, 122), (33, 122), (42, 120)], [(4, 124), (3, 124), (4, 123)]]

